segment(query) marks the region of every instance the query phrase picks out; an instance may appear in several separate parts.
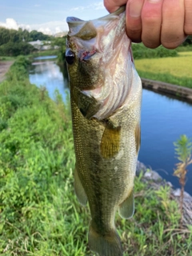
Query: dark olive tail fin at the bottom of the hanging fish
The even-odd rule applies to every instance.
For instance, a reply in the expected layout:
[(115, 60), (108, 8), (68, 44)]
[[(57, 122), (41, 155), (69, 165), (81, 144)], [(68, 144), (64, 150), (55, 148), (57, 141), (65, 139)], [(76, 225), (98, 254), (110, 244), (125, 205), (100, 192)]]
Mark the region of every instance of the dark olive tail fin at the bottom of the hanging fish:
[(97, 252), (99, 256), (122, 256), (122, 244), (116, 230), (111, 230), (102, 236), (98, 234), (90, 222), (89, 231), (90, 250)]

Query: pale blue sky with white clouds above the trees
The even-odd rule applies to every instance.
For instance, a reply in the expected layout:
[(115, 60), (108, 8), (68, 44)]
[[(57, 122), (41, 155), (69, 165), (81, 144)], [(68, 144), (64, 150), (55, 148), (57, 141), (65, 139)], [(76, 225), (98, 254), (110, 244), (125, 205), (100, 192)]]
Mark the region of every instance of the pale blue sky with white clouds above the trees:
[(106, 14), (101, 0), (0, 0), (0, 26), (44, 34), (67, 31), (68, 16), (90, 20)]

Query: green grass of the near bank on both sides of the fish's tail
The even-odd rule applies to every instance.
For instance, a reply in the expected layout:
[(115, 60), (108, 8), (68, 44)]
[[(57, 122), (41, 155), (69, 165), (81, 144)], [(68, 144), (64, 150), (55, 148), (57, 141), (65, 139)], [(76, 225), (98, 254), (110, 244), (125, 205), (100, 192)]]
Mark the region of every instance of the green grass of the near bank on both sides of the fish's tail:
[[(0, 84), (0, 254), (90, 256), (88, 207), (74, 195), (70, 108), (31, 85), (25, 58)], [(124, 256), (190, 256), (192, 227), (180, 228), (169, 187), (135, 179), (135, 214), (116, 216)]]

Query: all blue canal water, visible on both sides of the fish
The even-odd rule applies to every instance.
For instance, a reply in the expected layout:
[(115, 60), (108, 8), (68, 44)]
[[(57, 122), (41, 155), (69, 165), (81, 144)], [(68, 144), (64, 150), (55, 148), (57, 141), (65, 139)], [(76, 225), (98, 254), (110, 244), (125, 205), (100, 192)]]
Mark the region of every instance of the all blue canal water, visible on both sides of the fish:
[[(46, 60), (46, 61), (45, 61)], [(48, 56), (36, 58), (30, 70), (30, 82), (46, 86), (50, 98), (58, 89), (66, 100), (67, 79)], [(173, 176), (178, 162), (174, 144), (180, 135), (192, 138), (192, 105), (168, 96), (143, 90), (142, 97), (142, 146), (138, 160), (179, 187), (178, 178)], [(186, 191), (192, 194), (192, 165), (188, 167)]]

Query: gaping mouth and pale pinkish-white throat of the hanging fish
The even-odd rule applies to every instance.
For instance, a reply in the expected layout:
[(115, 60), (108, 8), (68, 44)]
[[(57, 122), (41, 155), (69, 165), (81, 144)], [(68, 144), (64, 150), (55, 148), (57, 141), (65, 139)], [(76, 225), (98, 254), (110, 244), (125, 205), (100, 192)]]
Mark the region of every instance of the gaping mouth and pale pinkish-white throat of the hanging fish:
[(92, 88), (82, 90), (82, 94), (99, 103), (100, 108), (94, 114), (98, 120), (108, 118), (122, 107), (130, 92), (133, 58), (126, 36), (125, 9), (122, 6), (112, 14), (88, 22), (74, 17), (66, 20), (70, 29), (68, 46), (73, 42), (79, 61), (99, 63), (94, 74), (102, 73), (102, 83), (98, 79)]

